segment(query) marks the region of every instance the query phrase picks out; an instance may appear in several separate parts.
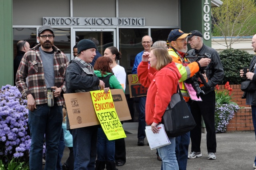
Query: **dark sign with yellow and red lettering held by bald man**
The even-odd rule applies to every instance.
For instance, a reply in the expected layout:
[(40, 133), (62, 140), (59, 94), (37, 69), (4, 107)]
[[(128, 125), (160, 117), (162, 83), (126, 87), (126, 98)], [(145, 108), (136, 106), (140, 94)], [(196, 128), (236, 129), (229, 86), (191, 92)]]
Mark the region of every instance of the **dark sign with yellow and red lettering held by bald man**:
[(148, 88), (143, 87), (140, 84), (137, 74), (128, 75), (128, 84), (129, 84), (130, 98), (147, 95)]

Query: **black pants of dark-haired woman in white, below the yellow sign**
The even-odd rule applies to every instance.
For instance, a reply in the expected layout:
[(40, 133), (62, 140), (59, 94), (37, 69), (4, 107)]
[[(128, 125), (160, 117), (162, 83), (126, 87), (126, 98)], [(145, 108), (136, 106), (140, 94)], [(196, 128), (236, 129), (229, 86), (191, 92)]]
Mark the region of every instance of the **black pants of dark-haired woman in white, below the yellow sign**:
[(125, 141), (124, 138), (116, 139), (116, 152), (115, 152), (115, 160), (116, 162), (126, 162), (126, 149), (125, 149)]

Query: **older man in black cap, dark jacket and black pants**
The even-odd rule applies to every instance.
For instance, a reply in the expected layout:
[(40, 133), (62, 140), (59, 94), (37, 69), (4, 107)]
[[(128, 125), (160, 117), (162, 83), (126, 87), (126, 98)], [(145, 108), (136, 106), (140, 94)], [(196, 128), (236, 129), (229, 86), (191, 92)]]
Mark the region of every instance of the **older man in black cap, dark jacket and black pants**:
[[(203, 43), (203, 36), (198, 30), (194, 30), (188, 36), (188, 43), (191, 46), (191, 50), (188, 51), (188, 55), (192, 56), (204, 56), (205, 53), (211, 55), (211, 62), (205, 68), (206, 77), (208, 79), (207, 84), (209, 87), (205, 87), (203, 84), (200, 88), (204, 91), (204, 95), (201, 96), (202, 101), (192, 101), (190, 104), (191, 113), (196, 122), (196, 127), (190, 131), (191, 138), (191, 152), (188, 155), (189, 159), (196, 157), (201, 157), (201, 119), (203, 117), (204, 123), (206, 125), (206, 145), (208, 151), (208, 159), (216, 159), (216, 134), (215, 134), (215, 122), (214, 122), (214, 112), (215, 112), (215, 91), (214, 87), (221, 83), (224, 78), (224, 71), (222, 63), (220, 61), (220, 56), (218, 52), (206, 46)], [(194, 58), (191, 61), (200, 62), (204, 58)], [(201, 65), (201, 67), (204, 67)], [(200, 82), (198, 82), (200, 84)]]

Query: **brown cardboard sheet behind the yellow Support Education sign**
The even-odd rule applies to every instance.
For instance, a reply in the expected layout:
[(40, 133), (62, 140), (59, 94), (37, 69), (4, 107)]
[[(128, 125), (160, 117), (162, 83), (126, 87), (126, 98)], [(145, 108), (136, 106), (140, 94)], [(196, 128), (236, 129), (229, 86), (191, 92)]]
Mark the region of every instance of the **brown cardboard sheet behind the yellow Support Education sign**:
[[(111, 89), (110, 91), (120, 121), (132, 119), (123, 89)], [(64, 99), (70, 129), (100, 124), (90, 92), (64, 94)]]

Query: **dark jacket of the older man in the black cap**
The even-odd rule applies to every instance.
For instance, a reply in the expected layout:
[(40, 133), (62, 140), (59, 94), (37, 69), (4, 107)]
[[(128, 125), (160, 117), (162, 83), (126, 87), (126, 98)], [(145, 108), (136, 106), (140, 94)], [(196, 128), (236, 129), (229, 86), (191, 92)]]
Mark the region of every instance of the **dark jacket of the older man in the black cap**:
[[(203, 44), (202, 48), (198, 51), (199, 56), (204, 56), (204, 53), (209, 53), (211, 55), (211, 62), (206, 67), (206, 76), (208, 79), (208, 85), (209, 87), (206, 88), (205, 86), (202, 86), (201, 89), (204, 91), (205, 94), (209, 93), (210, 91), (214, 91), (214, 87), (217, 84), (222, 83), (222, 80), (224, 78), (224, 70), (222, 67), (222, 63), (220, 61), (220, 56), (218, 52), (206, 45)], [(195, 49), (191, 49), (188, 51), (188, 56), (196, 56), (197, 53)], [(200, 58), (199, 58), (200, 59)], [(199, 61), (199, 59), (190, 59), (190, 61)], [(199, 83), (199, 82), (198, 82)]]

